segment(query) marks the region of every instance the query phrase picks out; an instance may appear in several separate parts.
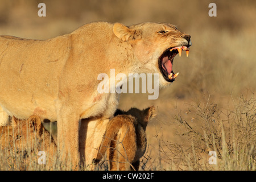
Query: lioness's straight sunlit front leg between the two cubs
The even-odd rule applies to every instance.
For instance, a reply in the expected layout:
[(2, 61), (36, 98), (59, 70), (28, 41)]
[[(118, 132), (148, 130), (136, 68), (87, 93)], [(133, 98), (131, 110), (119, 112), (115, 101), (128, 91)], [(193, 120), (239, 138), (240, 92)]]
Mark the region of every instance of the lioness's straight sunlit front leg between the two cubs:
[(57, 112), (57, 146), (63, 162), (72, 160), (72, 169), (79, 168), (79, 114), (70, 107)]

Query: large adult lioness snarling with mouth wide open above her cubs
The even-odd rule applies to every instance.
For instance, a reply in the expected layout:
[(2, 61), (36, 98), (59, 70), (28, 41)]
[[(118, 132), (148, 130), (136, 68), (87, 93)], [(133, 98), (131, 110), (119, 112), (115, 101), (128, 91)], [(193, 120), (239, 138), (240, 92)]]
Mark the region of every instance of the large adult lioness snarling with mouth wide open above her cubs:
[(172, 24), (151, 22), (89, 23), (48, 40), (0, 36), (1, 123), (7, 114), (57, 121), (58, 147), (76, 166), (80, 119), (112, 117), (118, 105), (118, 94), (97, 92), (98, 75), (159, 73), (159, 85), (168, 85), (175, 55), (189, 46), (190, 36)]

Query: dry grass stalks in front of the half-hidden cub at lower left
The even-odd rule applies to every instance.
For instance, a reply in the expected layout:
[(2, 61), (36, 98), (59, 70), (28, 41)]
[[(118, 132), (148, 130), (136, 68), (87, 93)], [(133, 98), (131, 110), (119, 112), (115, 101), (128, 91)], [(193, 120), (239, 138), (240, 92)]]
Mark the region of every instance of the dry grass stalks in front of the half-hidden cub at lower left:
[[(26, 136), (21, 134), (24, 128), (17, 126), (18, 135), (14, 135), (14, 127), (9, 127), (10, 130), (6, 133), (1, 127), (0, 131), (0, 170), (4, 171), (33, 171), (33, 170), (71, 170), (71, 160), (60, 160), (59, 154), (50, 155), (46, 150), (45, 143), (49, 142), (51, 138), (40, 139), (36, 137), (36, 133), (29, 133), (30, 129), (26, 129)], [(51, 130), (50, 130), (51, 131)], [(47, 131), (46, 131), (47, 132)], [(44, 133), (43, 133), (44, 135)], [(48, 141), (46, 141), (48, 140)], [(2, 144), (6, 145), (3, 146)], [(39, 151), (46, 152), (46, 165), (39, 164)], [(42, 159), (42, 158), (41, 158)], [(43, 162), (43, 160), (40, 160)]]

